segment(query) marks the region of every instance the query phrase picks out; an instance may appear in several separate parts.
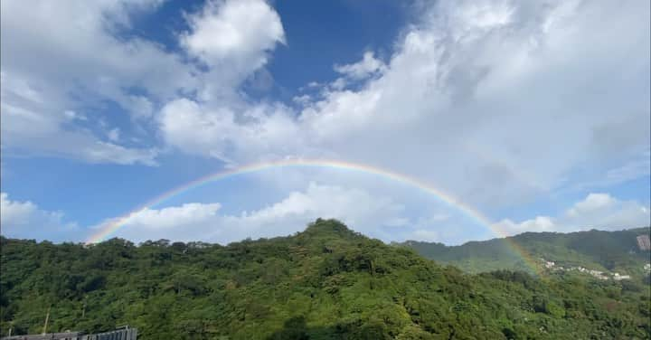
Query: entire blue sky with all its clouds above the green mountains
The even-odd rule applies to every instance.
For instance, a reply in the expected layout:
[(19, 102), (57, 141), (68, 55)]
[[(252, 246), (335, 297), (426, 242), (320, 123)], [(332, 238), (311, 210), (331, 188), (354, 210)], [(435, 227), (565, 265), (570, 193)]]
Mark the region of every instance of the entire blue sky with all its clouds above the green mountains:
[[(30, 20), (25, 20), (30, 18)], [(596, 27), (596, 28), (595, 28)], [(649, 224), (649, 4), (2, 3), (2, 232), (228, 242), (335, 217), (383, 241)]]

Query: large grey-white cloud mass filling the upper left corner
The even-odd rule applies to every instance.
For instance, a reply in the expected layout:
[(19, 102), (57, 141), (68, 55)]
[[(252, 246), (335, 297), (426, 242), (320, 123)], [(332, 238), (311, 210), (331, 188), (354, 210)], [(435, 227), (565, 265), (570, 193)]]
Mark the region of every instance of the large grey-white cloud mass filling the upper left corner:
[[(136, 37), (118, 37), (131, 16), (159, 1), (2, 2), (2, 146), (21, 155), (93, 163), (154, 165), (152, 146), (124, 146), (99, 124), (109, 100), (134, 118), (151, 115), (149, 99), (193, 88), (193, 67)], [(110, 135), (109, 135), (110, 136)]]

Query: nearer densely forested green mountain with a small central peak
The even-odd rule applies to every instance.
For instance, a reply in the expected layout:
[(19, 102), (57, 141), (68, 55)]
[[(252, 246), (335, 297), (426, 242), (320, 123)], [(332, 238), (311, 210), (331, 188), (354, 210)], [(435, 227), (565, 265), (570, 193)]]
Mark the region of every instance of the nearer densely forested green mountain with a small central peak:
[(465, 274), (317, 220), (228, 246), (0, 240), (0, 331), (142, 339), (651, 338), (649, 287)]

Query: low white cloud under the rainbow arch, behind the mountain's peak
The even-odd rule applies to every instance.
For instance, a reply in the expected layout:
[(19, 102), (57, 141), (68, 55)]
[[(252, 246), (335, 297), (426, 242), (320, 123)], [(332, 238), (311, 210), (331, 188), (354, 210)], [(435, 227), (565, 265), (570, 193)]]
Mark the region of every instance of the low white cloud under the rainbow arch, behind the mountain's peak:
[[(380, 227), (399, 228), (404, 207), (386, 197), (359, 189), (312, 183), (288, 194), (277, 203), (240, 214), (221, 213), (219, 203), (186, 203), (162, 209), (146, 209), (124, 221), (116, 236), (144, 241), (217, 241), (275, 237), (305, 229), (316, 218), (336, 218), (351, 228), (375, 237), (385, 236)], [(110, 221), (109, 221), (110, 222)]]

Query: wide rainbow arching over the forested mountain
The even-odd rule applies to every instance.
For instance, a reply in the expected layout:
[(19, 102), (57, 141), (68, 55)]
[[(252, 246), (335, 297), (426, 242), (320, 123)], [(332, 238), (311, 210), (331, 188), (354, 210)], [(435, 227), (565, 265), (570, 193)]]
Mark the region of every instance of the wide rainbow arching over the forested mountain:
[[(92, 234), (88, 239), (88, 241), (86, 241), (86, 243), (87, 244), (97, 243), (108, 239), (111, 234), (118, 231), (133, 216), (137, 215), (138, 213), (142, 213), (147, 209), (156, 206), (157, 204), (163, 203), (165, 202), (165, 200), (168, 200), (177, 194), (187, 192), (203, 184), (207, 184), (215, 181), (221, 181), (225, 178), (229, 178), (232, 176), (250, 174), (250, 173), (255, 173), (255, 172), (259, 172), (271, 168), (282, 168), (282, 167), (327, 167), (327, 168), (334, 168), (334, 169), (345, 170), (345, 171), (354, 171), (363, 174), (377, 175), (395, 182), (407, 184), (412, 187), (418, 188), (427, 194), (433, 195), (442, 203), (446, 203), (450, 206), (455, 207), (459, 212), (463, 213), (464, 215), (474, 220), (478, 224), (485, 226), (489, 230), (493, 231), (495, 234), (501, 237), (508, 236), (505, 231), (501, 230), (497, 226), (497, 224), (491, 222), (483, 213), (477, 211), (476, 209), (472, 208), (466, 203), (463, 203), (462, 201), (458, 200), (456, 197), (452, 196), (451, 194), (444, 193), (438, 188), (432, 186), (431, 184), (425, 183), (420, 179), (410, 177), (408, 175), (395, 173), (392, 172), (391, 170), (382, 169), (380, 167), (351, 163), (351, 162), (343, 162), (337, 160), (324, 160), (324, 159), (286, 159), (286, 160), (244, 165), (241, 167), (224, 170), (210, 175), (205, 175), (187, 184), (177, 186), (174, 189), (169, 190), (163, 194), (160, 194), (154, 197), (153, 199), (147, 201), (146, 203), (139, 205), (136, 209), (132, 210), (131, 212), (126, 213), (118, 218), (111, 219), (109, 222), (106, 222), (103, 225), (99, 226), (99, 231)], [(526, 263), (527, 266), (531, 267), (534, 270), (534, 272), (538, 272), (538, 270), (536, 269), (537, 268), (536, 261), (531, 258), (531, 256), (528, 254), (527, 251), (522, 249), (522, 247), (520, 247), (514, 241), (511, 241), (511, 239), (506, 238), (505, 240), (510, 244), (511, 248), (513, 248), (513, 250), (515, 250), (516, 253), (518, 253), (523, 258), (524, 263)]]

